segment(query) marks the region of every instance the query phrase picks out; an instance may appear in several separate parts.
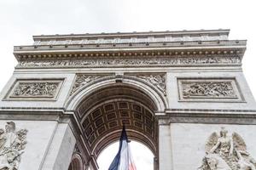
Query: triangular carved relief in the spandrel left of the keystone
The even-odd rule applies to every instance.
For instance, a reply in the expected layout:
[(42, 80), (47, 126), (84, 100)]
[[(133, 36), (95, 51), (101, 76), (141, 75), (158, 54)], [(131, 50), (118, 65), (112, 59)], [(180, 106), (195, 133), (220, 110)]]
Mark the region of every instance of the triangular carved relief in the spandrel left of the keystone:
[(104, 77), (102, 75), (88, 75), (88, 74), (78, 74), (76, 76), (75, 82), (73, 83), (73, 88), (70, 95), (75, 93), (79, 88), (86, 86), (89, 82), (92, 82), (98, 78)]

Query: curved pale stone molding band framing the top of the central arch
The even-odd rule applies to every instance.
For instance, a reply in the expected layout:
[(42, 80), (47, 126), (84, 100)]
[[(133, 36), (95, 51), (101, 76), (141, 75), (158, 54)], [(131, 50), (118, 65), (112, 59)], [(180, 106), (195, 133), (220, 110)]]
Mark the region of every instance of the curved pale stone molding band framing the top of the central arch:
[(168, 108), (168, 102), (165, 94), (160, 92), (160, 90), (155, 88), (152, 84), (145, 82), (140, 78), (131, 76), (122, 76), (122, 82), (117, 82), (118, 79), (118, 77), (108, 76), (99, 78), (92, 83), (90, 82), (67, 99), (65, 105), (66, 110), (75, 111), (78, 105), (80, 105), (80, 103), (90, 94), (96, 93), (99, 89), (109, 88), (116, 85), (122, 85), (141, 91), (143, 95), (153, 101), (153, 105), (156, 105), (156, 109), (154, 110), (156, 112), (164, 112)]

